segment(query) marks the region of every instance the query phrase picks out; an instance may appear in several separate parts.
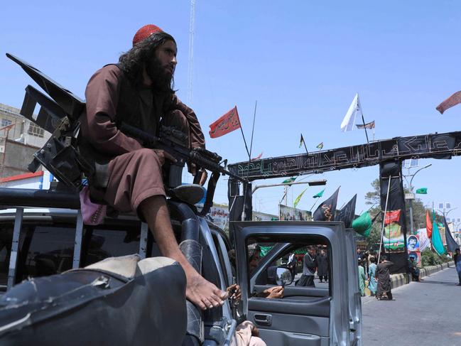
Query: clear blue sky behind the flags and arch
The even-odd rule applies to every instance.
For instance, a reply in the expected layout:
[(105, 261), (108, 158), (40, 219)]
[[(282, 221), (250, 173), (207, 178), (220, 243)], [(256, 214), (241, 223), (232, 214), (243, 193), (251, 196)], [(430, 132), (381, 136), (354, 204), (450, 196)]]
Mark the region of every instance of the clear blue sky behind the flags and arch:
[[(116, 63), (141, 26), (156, 24), (178, 43), (175, 87), (187, 98), (190, 1), (7, 1), (1, 11), (1, 53), (26, 60), (82, 98), (92, 74)], [(443, 115), (435, 107), (461, 90), (460, 32), (460, 1), (196, 0), (189, 106), (207, 148), (229, 163), (247, 159), (242, 134), (210, 139), (208, 125), (237, 105), (250, 141), (256, 101), (252, 156), (264, 158), (303, 153), (301, 132), (309, 151), (320, 142), (324, 150), (366, 142), (363, 131), (340, 131), (356, 92), (365, 120), (376, 121), (376, 139), (457, 131), (461, 105)], [(0, 103), (20, 108), (28, 84), (34, 85), (0, 55)], [(427, 159), (420, 168), (429, 163), (413, 178), (415, 188), (428, 188), (423, 202), (450, 202), (458, 209), (449, 217), (461, 217), (461, 158)], [(357, 193), (359, 213), (378, 175), (373, 166), (305, 180), (327, 179), (325, 197), (341, 186), (340, 206)], [(215, 202), (227, 202), (226, 179)], [(289, 190), (289, 205), (304, 188)], [(298, 207), (309, 210), (320, 189), (308, 188)], [(283, 188), (261, 188), (254, 209), (277, 214), (282, 196)]]

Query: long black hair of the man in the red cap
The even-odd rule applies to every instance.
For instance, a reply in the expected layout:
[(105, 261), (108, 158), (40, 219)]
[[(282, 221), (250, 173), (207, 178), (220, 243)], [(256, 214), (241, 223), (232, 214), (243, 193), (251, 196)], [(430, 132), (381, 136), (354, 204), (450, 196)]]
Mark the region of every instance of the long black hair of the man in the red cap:
[[(120, 55), (119, 66), (126, 74), (126, 77), (136, 86), (139, 87), (143, 82), (143, 68), (148, 60), (155, 59), (156, 49), (166, 43), (166, 41), (172, 40), (176, 43), (173, 36), (168, 33), (160, 32), (154, 33), (148, 38), (136, 43), (133, 48), (128, 52)], [(168, 82), (168, 91), (173, 93), (174, 87), (173, 75)]]

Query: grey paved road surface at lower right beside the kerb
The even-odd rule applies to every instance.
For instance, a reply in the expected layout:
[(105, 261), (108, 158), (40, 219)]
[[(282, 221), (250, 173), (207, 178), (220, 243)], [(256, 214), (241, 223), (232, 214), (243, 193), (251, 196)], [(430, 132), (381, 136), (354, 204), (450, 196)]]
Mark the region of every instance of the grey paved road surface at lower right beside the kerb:
[(395, 301), (362, 298), (364, 346), (461, 345), (461, 286), (455, 268), (392, 290)]

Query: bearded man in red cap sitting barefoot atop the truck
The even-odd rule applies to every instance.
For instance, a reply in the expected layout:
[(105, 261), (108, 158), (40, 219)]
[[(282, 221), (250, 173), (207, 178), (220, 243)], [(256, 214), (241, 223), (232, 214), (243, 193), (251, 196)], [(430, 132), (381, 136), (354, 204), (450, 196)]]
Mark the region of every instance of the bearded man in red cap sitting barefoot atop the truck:
[[(97, 196), (118, 212), (137, 212), (146, 220), (161, 254), (183, 266), (188, 300), (207, 309), (221, 306), (227, 293), (195, 271), (176, 242), (161, 170), (175, 158), (166, 151), (143, 148), (119, 129), (124, 122), (157, 135), (161, 124), (175, 126), (188, 135), (191, 148), (205, 148), (195, 113), (173, 90), (176, 53), (173, 36), (147, 25), (136, 32), (133, 47), (120, 56), (119, 64), (94, 73), (85, 90), (79, 149), (89, 161), (104, 167), (99, 170), (104, 177), (89, 177), (92, 198)], [(193, 165), (190, 171), (203, 174)]]

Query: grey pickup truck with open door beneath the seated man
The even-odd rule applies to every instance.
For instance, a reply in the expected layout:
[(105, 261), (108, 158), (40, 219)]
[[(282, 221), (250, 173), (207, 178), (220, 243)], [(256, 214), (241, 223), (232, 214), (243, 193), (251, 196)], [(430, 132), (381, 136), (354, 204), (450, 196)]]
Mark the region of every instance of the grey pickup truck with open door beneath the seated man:
[[(101, 266), (99, 274), (112, 280), (107, 291), (101, 288), (99, 276), (99, 281), (91, 276), (99, 270), (98, 263), (109, 259), (137, 254), (141, 264), (160, 256), (147, 225), (136, 215), (107, 217), (98, 226), (83, 225), (78, 195), (58, 190), (0, 188), (0, 205), (4, 208), (0, 212), (0, 284), (6, 289), (0, 298), (1, 345), (147, 345), (148, 340), (150, 345), (237, 345), (237, 320), (242, 317), (259, 328), (267, 345), (361, 345), (354, 231), (345, 229), (342, 222), (233, 222), (232, 244), (222, 229), (197, 216), (194, 206), (168, 200), (178, 242), (184, 240), (188, 220), (197, 222), (205, 279), (222, 289), (237, 282), (242, 289), (241, 303), (227, 301), (222, 308), (198, 314), (195, 310), (192, 318), (190, 308), (185, 308), (185, 279), (178, 265), (168, 263), (161, 268), (166, 276), (161, 273), (150, 279), (147, 274), (112, 275), (110, 268)], [(287, 276), (288, 269), (278, 265), (291, 252), (311, 245), (327, 249), (328, 283), (295, 286), (293, 279), (300, 274)], [(269, 249), (264, 256), (258, 250), (263, 248)], [(229, 259), (231, 249), (235, 263)], [(96, 293), (83, 292), (78, 298), (61, 299), (60, 305), (40, 301), (35, 310), (11, 315), (11, 301), (15, 307), (20, 305), (17, 299), (23, 298), (24, 290), (29, 290), (29, 305), (38, 295), (25, 285), (48, 290), (63, 286), (64, 291), (53, 297), (66, 296), (63, 278), (71, 276), (68, 280), (72, 281), (72, 275), (86, 272), (91, 272), (93, 290), (102, 291), (97, 293), (97, 299), (102, 299), (97, 308), (85, 308), (90, 304), (85, 294)], [(148, 280), (154, 298), (145, 296)], [(284, 286), (283, 297), (264, 298), (261, 293), (276, 285)], [(125, 286), (131, 287), (129, 293)], [(21, 287), (23, 291), (11, 295)], [(111, 296), (114, 301), (107, 301)], [(50, 294), (47, 298), (50, 301)], [(128, 306), (131, 310), (126, 310)], [(47, 309), (49, 313), (43, 315)], [(134, 318), (133, 309), (143, 320)], [(195, 318), (200, 323), (194, 327), (190, 323)], [(129, 319), (137, 323), (130, 324)], [(72, 337), (63, 339), (67, 335)]]

